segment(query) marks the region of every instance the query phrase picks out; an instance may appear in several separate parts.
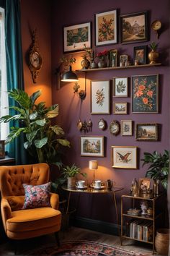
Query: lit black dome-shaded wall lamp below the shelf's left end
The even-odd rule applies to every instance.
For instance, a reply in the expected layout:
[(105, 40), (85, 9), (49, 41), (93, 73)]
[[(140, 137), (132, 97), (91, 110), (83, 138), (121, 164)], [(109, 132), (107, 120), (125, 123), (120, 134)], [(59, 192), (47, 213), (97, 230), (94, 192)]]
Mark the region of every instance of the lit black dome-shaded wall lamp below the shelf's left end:
[(76, 73), (72, 71), (72, 67), (69, 66), (69, 70), (65, 73), (63, 73), (61, 77), (61, 65), (55, 69), (55, 74), (57, 74), (57, 89), (59, 90), (61, 88), (60, 82), (77, 82), (79, 81)]

